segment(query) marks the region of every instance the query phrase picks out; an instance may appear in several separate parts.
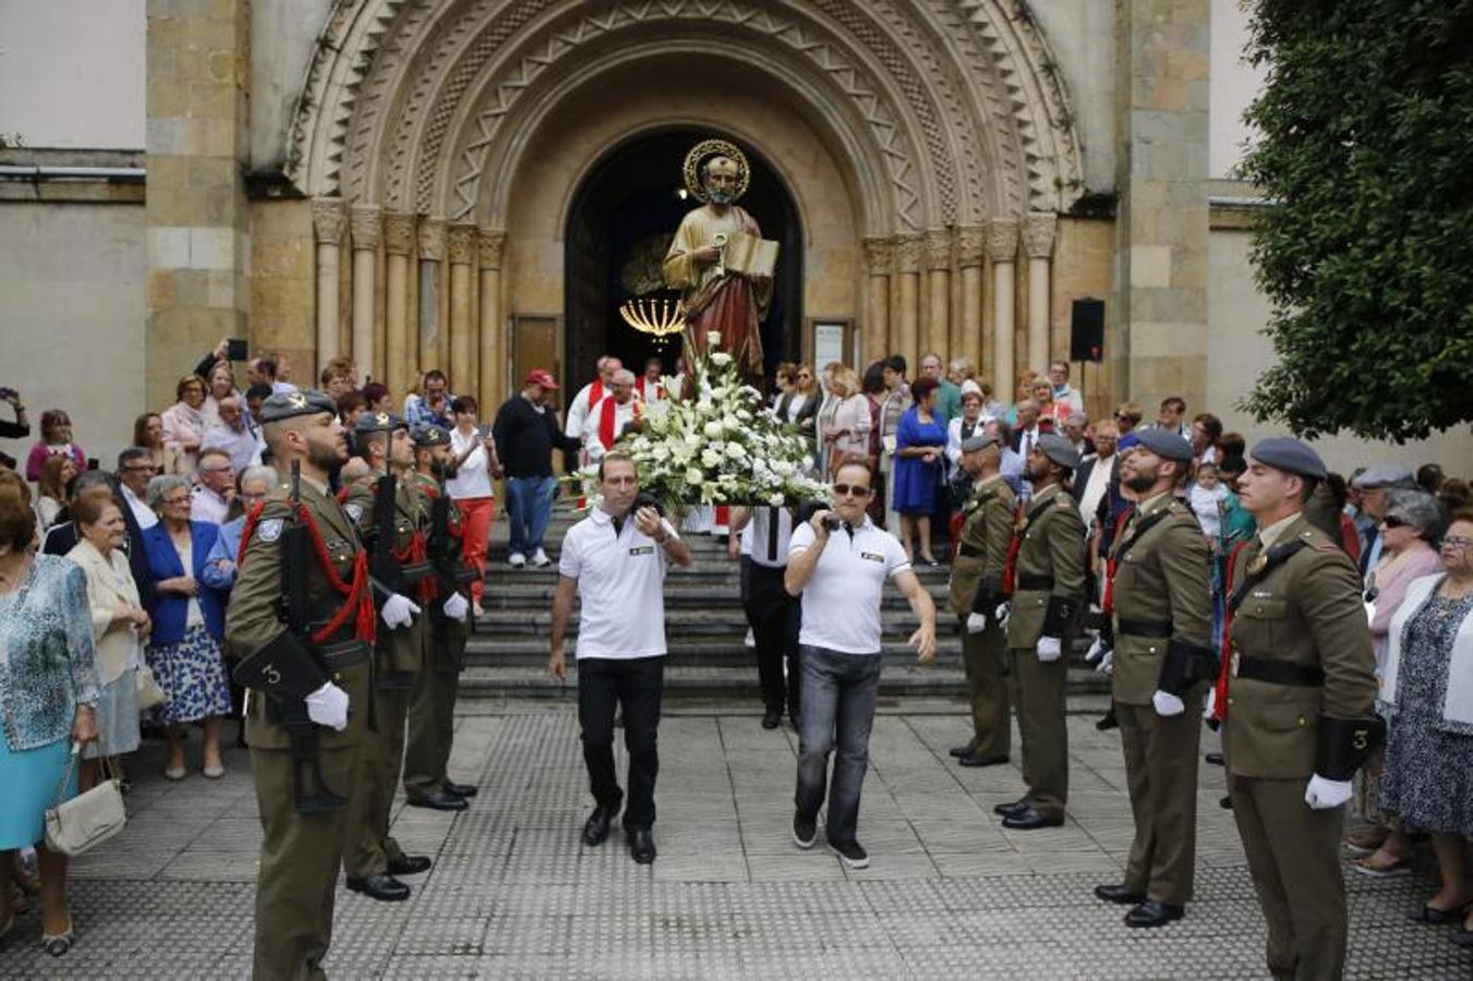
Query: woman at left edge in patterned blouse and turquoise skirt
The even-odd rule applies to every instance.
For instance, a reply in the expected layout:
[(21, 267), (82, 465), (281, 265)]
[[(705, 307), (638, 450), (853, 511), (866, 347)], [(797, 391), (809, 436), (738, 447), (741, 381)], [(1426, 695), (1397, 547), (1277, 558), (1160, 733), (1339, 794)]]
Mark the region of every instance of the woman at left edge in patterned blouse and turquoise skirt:
[[(87, 574), (35, 554), (29, 489), (0, 471), (0, 938), (15, 926), (15, 850), (44, 838), (72, 744), (97, 738), (94, 658)], [(60, 788), (63, 798), (75, 792), (75, 779)], [(59, 957), (72, 946), (66, 856), (40, 844), (37, 853), (41, 946)]]

